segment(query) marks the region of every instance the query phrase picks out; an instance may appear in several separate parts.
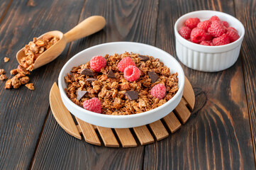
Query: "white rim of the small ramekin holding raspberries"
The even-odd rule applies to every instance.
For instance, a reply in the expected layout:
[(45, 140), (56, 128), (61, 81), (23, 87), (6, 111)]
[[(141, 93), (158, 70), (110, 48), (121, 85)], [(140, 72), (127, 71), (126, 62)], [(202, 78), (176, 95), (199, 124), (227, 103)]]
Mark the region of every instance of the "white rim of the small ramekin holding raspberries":
[[(197, 13), (213, 13), (213, 15), (218, 14), (219, 16), (227, 16), (227, 17), (233, 18), (233, 20), (237, 21), (238, 24), (240, 25), (240, 28), (239, 28), (239, 29), (241, 29), (240, 38), (238, 38), (238, 40), (235, 40), (234, 42), (231, 42), (227, 45), (218, 45), (218, 46), (199, 45), (194, 42), (190, 42), (189, 40), (186, 40), (185, 38), (182, 38), (182, 36), (179, 35), (178, 30), (177, 30), (177, 26), (178, 26), (179, 22), (181, 22), (183, 18), (185, 18), (187, 16), (191, 16), (193, 14), (197, 14)], [(243, 23), (241, 23), (237, 18), (235, 18), (234, 16), (231, 16), (228, 13), (223, 13), (220, 11), (212, 11), (212, 10), (201, 10), (201, 11), (193, 11), (190, 13), (186, 13), (183, 16), (179, 17), (177, 19), (177, 21), (175, 22), (174, 32), (175, 32), (175, 37), (179, 38), (179, 40), (182, 40), (182, 44), (188, 43), (186, 46), (189, 46), (193, 49), (196, 48), (196, 50), (200, 49), (203, 52), (218, 53), (218, 52), (232, 50), (233, 48), (237, 47), (239, 45), (239, 43), (243, 40), (243, 37), (245, 35), (245, 27), (243, 26)]]

